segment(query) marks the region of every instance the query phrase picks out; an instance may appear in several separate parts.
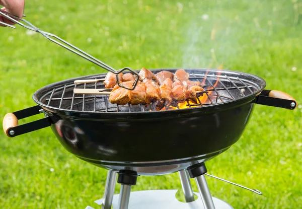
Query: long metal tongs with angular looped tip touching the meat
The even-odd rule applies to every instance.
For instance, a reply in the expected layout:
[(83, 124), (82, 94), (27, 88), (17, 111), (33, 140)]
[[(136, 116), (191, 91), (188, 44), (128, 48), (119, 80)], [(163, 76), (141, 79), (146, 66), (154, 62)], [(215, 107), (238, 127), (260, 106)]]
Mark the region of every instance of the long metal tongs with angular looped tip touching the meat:
[[(122, 88), (125, 88), (125, 89), (128, 89), (128, 90), (133, 90), (133, 89), (136, 87), (136, 84), (137, 84), (138, 79), (139, 79), (139, 75), (138, 75), (138, 73), (134, 72), (130, 67), (124, 67), (124, 68), (119, 69), (119, 70), (117, 71), (116, 69), (114, 69), (113, 67), (109, 66), (108, 64), (106, 64), (106, 63), (100, 61), (99, 59), (93, 57), (92, 55), (86, 53), (85, 51), (83, 51), (83, 50), (81, 50), (81, 49), (79, 49), (79, 48), (73, 46), (72, 44), (68, 43), (67, 41), (61, 39), (60, 37), (58, 37), (58, 36), (56, 36), (56, 35), (53, 35), (53, 34), (51, 34), (51, 33), (47, 33), (47, 32), (45, 32), (45, 31), (42, 31), (42, 30), (40, 30), (39, 28), (35, 27), (35, 26), (34, 26), (33, 24), (31, 24), (30, 22), (28, 22), (28, 21), (26, 21), (26, 20), (24, 20), (24, 19), (22, 19), (22, 18), (16, 17), (16, 16), (14, 16), (14, 15), (12, 15), (12, 14), (10, 14), (10, 13), (4, 11), (4, 10), (0, 10), (0, 16), (3, 16), (3, 17), (9, 19), (10, 21), (12, 21), (12, 22), (14, 22), (14, 23), (16, 23), (16, 24), (18, 24), (18, 25), (21, 25), (22, 27), (24, 27), (24, 28), (26, 28), (26, 29), (29, 29), (29, 30), (32, 30), (32, 31), (35, 31), (35, 32), (37, 32), (37, 33), (42, 34), (42, 35), (43, 35), (45, 38), (47, 38), (48, 40), (50, 40), (50, 41), (52, 41), (52, 42), (58, 44), (59, 46), (62, 46), (62, 47), (65, 48), (65, 49), (68, 49), (69, 51), (71, 51), (71, 52), (73, 52), (73, 53), (75, 53), (75, 54), (77, 54), (77, 55), (79, 55), (79, 56), (81, 56), (81, 57), (87, 59), (88, 61), (91, 61), (92, 63), (94, 63), (94, 64), (96, 64), (96, 65), (98, 65), (98, 66), (100, 66), (100, 67), (103, 67), (103, 68), (106, 69), (107, 71), (109, 71), (109, 72), (115, 74), (115, 75), (116, 75), (116, 81), (117, 81), (118, 86), (120, 86), (120, 87), (122, 87)], [(23, 17), (26, 17), (26, 16), (23, 15)], [(20, 21), (20, 22), (19, 22), (19, 21)], [(21, 21), (25, 22), (27, 25), (22, 24)], [(0, 21), (0, 24), (5, 25), (5, 26), (8, 26), (8, 27), (13, 28), (13, 29), (16, 28), (15, 26), (12, 26), (12, 25), (10, 25), (10, 24), (7, 24), (7, 23), (1, 22), (1, 21)], [(63, 42), (63, 43), (66, 44), (67, 46), (64, 45), (64, 44), (62, 44), (62, 43), (60, 43), (60, 42), (58, 42), (58, 41), (56, 41), (56, 40), (54, 40), (54, 39), (52, 39), (51, 37), (53, 37), (53, 38), (55, 38), (55, 39), (57, 39), (57, 40)], [(119, 81), (118, 74), (122, 73), (122, 72), (125, 71), (125, 70), (130, 71), (130, 73), (133, 74), (133, 76), (135, 77), (135, 80), (134, 80), (134, 82), (133, 82), (133, 84), (132, 84), (132, 88), (128, 88), (128, 87), (124, 86), (124, 85), (121, 84), (120, 81)]]

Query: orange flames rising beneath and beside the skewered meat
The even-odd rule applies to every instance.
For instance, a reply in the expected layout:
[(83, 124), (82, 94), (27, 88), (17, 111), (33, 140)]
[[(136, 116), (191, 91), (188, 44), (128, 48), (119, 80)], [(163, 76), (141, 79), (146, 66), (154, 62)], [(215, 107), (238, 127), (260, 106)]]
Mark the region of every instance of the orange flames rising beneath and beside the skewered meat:
[[(217, 67), (217, 69), (219, 69), (219, 70), (221, 70), (222, 68), (223, 68), (223, 63), (221, 63), (221, 64)], [(208, 73), (209, 73), (209, 71), (206, 71), (205, 76), (204, 76), (204, 79), (203, 79), (202, 82), (201, 82), (202, 84), (205, 83), (205, 81), (206, 81), (206, 75), (207, 75)], [(220, 74), (221, 74), (221, 72), (219, 71), (218, 74), (217, 74), (216, 76), (219, 76)], [(218, 77), (218, 79), (216, 80), (215, 84), (213, 84), (213, 87), (216, 87), (217, 84), (218, 84), (218, 82), (219, 82), (219, 77)], [(210, 88), (211, 88), (211, 87), (210, 87)], [(200, 101), (202, 104), (205, 104), (205, 103), (209, 102), (209, 97), (210, 97), (210, 95), (212, 94), (212, 92), (214, 92), (214, 91), (209, 91), (209, 92), (207, 93), (208, 96), (207, 96), (205, 93), (202, 94), (201, 96), (199, 96), (199, 97), (198, 97), (199, 101)], [(190, 105), (196, 105), (195, 103), (193, 103), (193, 102), (191, 102), (191, 101), (179, 102), (179, 103), (178, 103), (179, 109), (189, 108), (190, 106), (188, 105), (188, 103), (189, 103)], [(199, 104), (199, 102), (198, 102), (198, 104)], [(176, 110), (176, 109), (178, 109), (178, 108), (175, 107), (175, 106), (172, 106), (172, 105), (170, 105), (170, 106), (168, 107), (168, 110)], [(162, 110), (166, 110), (166, 108), (164, 107)]]

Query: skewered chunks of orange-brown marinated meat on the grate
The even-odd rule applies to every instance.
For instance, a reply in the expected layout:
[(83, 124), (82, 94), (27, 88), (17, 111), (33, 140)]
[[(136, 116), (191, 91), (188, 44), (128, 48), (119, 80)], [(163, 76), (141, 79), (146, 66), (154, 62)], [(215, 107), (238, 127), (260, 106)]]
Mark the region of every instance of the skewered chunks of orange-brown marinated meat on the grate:
[[(139, 72), (140, 81), (134, 90), (124, 89), (115, 84), (111, 93), (100, 92), (99, 94), (110, 94), (109, 101), (113, 104), (126, 105), (129, 103), (131, 105), (143, 104), (147, 106), (150, 103), (154, 103), (157, 109), (162, 109), (165, 105), (169, 106), (172, 103), (184, 102), (186, 100), (197, 103), (196, 94), (204, 91), (200, 87), (200, 82), (186, 80), (189, 74), (183, 69), (176, 71), (175, 77), (171, 72), (167, 72), (160, 72), (154, 75), (148, 69), (142, 68)], [(121, 81), (123, 81), (121, 83), (129, 88), (133, 84), (133, 80), (135, 80), (132, 74), (121, 74), (119, 76), (121, 76)], [(106, 76), (105, 80), (107, 80), (106, 86), (112, 87), (116, 82), (116, 76), (110, 73), (109, 76)], [(161, 85), (157, 84), (154, 80), (160, 81)], [(84, 89), (83, 91), (78, 91), (78, 93), (88, 93), (89, 91), (97, 92), (98, 90)]]

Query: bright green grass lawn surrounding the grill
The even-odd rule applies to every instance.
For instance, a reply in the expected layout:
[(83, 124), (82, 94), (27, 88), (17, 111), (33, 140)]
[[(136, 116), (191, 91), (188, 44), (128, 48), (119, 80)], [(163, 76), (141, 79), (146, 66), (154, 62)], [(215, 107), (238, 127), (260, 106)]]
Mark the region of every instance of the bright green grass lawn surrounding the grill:
[[(266, 89), (285, 91), (302, 102), (301, 2), (83, 2), (26, 1), (25, 14), (37, 27), (115, 68), (215, 68), (223, 63), (225, 69), (256, 74), (266, 80)], [(45, 85), (105, 72), (39, 34), (28, 35), (21, 27), (0, 30), (1, 118), (35, 105), (32, 94)], [(256, 105), (240, 141), (207, 168), (263, 195), (207, 178), (212, 195), (234, 208), (300, 208), (301, 116), (301, 106), (290, 111)], [(100, 208), (93, 201), (103, 196), (106, 170), (67, 153), (50, 128), (16, 138), (1, 133), (0, 142), (1, 208)], [(145, 189), (181, 189), (178, 173), (139, 177), (133, 190)]]

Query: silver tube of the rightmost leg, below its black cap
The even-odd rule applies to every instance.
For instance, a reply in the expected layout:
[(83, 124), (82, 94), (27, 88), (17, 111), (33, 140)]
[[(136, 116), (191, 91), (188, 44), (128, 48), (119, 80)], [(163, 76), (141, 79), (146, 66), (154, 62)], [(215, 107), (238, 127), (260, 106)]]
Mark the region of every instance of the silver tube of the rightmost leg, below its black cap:
[(204, 208), (215, 209), (209, 187), (205, 180), (205, 176), (204, 175), (198, 176), (195, 178), (195, 181), (197, 183), (198, 191), (202, 199)]

